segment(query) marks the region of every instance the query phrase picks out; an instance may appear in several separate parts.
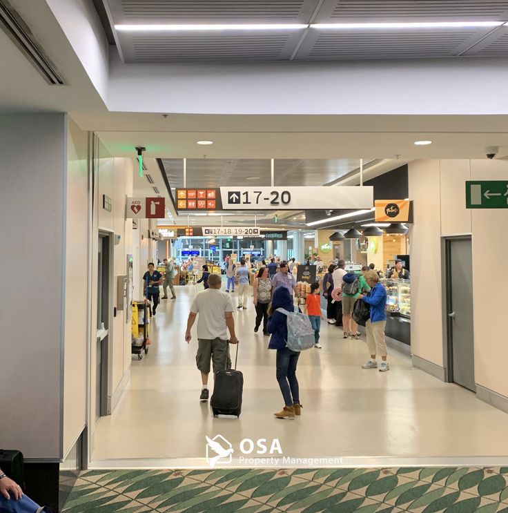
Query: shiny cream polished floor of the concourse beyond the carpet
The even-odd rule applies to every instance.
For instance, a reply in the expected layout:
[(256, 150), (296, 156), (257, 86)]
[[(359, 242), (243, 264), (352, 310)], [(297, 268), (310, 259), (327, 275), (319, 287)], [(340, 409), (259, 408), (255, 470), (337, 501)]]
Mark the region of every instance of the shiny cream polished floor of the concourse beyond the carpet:
[[(302, 416), (273, 418), (283, 405), (275, 351), (266, 349), (262, 333), (253, 332), (251, 302), (247, 310), (235, 312), (238, 367), (245, 382), (243, 413), (239, 420), (213, 418), (208, 404), (199, 402), (195, 330), (190, 345), (184, 340), (190, 302), (199, 290), (199, 285), (177, 287), (177, 300), (159, 307), (148, 356), (141, 361), (133, 356), (130, 383), (115, 412), (97, 423), (96, 468), (207, 467), (205, 436), (217, 434), (235, 447), (244, 438), (265, 438), (268, 445), (277, 438), (284, 456), (335, 458), (333, 466), (508, 463), (503, 457), (508, 454), (508, 414), (466, 389), (413, 369), (409, 358), (393, 351), (390, 371), (362, 369), (364, 340), (342, 340), (342, 331), (326, 322), (323, 349), (300, 356)], [(231, 465), (248, 465), (242, 457), (235, 450)], [(281, 463), (266, 461), (262, 466), (277, 465)]]

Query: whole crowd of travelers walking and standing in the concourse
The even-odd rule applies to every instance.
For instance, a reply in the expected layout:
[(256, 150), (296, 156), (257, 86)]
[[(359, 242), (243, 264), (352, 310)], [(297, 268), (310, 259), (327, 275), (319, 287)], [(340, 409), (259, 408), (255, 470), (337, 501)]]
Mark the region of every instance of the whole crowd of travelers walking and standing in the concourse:
[[(311, 292), (306, 295), (305, 304), (295, 304), (295, 298), (300, 297), (295, 274), (297, 263), (292, 258), (289, 262), (271, 257), (268, 264), (264, 260), (253, 264), (248, 259), (233, 262), (226, 260), (226, 289), (222, 291), (222, 277), (208, 271), (206, 265), (202, 268), (202, 278), (197, 283), (204, 285), (204, 291), (197, 293), (188, 315), (185, 340), (190, 342), (190, 330), (197, 319), (197, 354), (196, 364), (202, 376), (202, 391), (199, 399), (208, 400), (210, 396), (208, 376), (221, 369), (231, 369), (229, 344), (236, 345), (238, 338), (235, 333), (233, 313), (236, 310), (248, 309), (248, 300), (253, 298), (255, 307), (255, 327), (257, 333), (262, 327), (264, 336), (270, 336), (268, 349), (277, 352), (276, 378), (280, 386), (284, 407), (274, 415), (276, 418), (294, 419), (301, 415), (300, 390), (296, 376), (297, 363), (301, 351), (290, 349), (289, 339), (294, 337), (292, 322), (300, 316), (306, 316), (307, 324), (313, 332), (313, 347), (321, 349), (321, 321), (327, 320), (329, 325), (342, 329), (344, 339), (359, 340), (362, 333), (353, 318), (353, 311), (358, 301), (367, 307), (368, 319), (364, 322), (367, 336), (369, 360), (362, 365), (363, 369), (379, 369), (385, 372), (390, 369), (387, 362), (387, 344), (384, 329), (387, 322), (386, 304), (387, 292), (380, 283), (380, 272), (375, 271), (374, 264), (362, 268), (360, 274), (346, 271), (344, 260), (330, 263), (321, 282), (311, 284)], [(315, 264), (323, 267), (324, 262), (316, 258)], [(145, 294), (153, 301), (153, 314), (158, 304), (159, 284), (164, 283), (164, 298), (167, 298), (166, 287), (169, 286), (175, 298), (173, 285), (166, 278), (171, 275), (171, 264), (164, 260), (166, 274), (154, 270), (153, 264), (148, 265), (144, 276)], [(252, 282), (251, 269), (257, 265), (257, 271)], [(409, 278), (402, 262), (397, 261), (393, 269), (387, 272), (389, 278)], [(157, 289), (157, 291), (155, 291)], [(237, 306), (234, 307), (232, 294), (237, 292)], [(322, 307), (326, 302), (326, 308)], [(302, 311), (303, 309), (303, 311)], [(326, 313), (326, 316), (325, 316)], [(380, 356), (378, 365), (377, 357)]]

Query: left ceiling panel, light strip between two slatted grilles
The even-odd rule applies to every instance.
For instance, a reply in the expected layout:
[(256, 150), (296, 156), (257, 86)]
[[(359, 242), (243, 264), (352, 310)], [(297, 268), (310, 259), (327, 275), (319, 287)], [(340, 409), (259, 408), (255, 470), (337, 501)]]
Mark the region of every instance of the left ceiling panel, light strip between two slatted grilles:
[[(289, 60), (318, 3), (318, 0), (104, 1), (113, 23), (119, 26), (117, 40), (127, 63)], [(248, 30), (246, 24), (250, 25)], [(121, 30), (120, 26), (126, 25), (172, 25), (179, 26), (179, 30)], [(211, 25), (226, 27), (210, 30)], [(232, 26), (236, 26), (235, 30)]]

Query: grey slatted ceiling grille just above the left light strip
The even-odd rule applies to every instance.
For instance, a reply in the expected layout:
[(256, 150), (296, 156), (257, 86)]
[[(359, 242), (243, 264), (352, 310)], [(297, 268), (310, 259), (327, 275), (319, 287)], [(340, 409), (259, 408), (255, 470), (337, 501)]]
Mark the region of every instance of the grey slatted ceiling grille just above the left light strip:
[(125, 19), (295, 19), (305, 1), (121, 0), (121, 9)]

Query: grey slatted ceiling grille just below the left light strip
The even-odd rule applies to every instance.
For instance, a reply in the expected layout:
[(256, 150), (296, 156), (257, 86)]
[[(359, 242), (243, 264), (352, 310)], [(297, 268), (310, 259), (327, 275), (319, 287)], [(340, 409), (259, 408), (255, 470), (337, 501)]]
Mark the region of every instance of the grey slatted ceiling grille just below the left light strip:
[(221, 61), (280, 59), (288, 35), (139, 36), (133, 38), (140, 61)]

